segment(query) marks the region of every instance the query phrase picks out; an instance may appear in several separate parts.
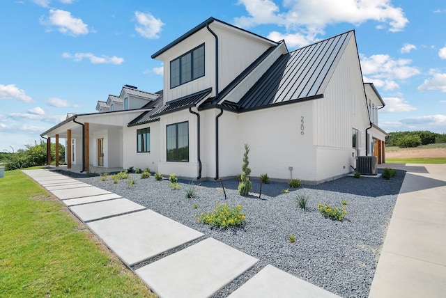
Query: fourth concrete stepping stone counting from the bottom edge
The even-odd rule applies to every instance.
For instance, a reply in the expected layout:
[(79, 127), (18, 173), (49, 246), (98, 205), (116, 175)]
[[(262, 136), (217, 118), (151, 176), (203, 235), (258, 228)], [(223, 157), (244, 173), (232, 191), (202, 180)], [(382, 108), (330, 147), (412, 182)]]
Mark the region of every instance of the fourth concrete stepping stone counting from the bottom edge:
[(116, 198), (116, 200), (102, 201), (85, 205), (71, 206), (70, 210), (82, 221), (102, 219), (112, 215), (143, 210), (146, 207), (134, 203), (127, 198)]

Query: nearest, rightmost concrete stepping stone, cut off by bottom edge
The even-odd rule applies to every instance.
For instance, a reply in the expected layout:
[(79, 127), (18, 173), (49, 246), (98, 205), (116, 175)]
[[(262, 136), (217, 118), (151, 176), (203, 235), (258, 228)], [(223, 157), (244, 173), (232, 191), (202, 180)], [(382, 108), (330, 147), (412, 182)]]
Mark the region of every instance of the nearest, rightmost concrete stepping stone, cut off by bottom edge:
[(252, 279), (249, 279), (228, 297), (340, 298), (332, 292), (298, 279), (272, 265), (266, 265), (258, 274), (254, 275)]

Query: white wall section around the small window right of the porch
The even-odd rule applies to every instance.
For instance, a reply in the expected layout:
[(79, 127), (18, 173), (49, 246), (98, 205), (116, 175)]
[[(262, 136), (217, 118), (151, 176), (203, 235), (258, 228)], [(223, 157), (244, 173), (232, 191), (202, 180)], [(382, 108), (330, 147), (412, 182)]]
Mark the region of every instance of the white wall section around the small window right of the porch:
[[(143, 128), (151, 129), (151, 152), (137, 152), (137, 130)], [(160, 157), (160, 122), (148, 123), (146, 125), (137, 125), (132, 127), (123, 127), (124, 159), (123, 168), (144, 169), (150, 168), (151, 171), (158, 171), (158, 162)]]

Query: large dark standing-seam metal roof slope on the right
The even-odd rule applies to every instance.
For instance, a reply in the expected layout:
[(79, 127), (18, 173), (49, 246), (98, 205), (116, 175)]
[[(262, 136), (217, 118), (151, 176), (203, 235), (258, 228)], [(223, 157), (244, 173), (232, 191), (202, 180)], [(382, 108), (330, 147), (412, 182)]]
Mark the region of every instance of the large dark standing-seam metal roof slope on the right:
[(321, 86), (351, 34), (348, 31), (282, 55), (240, 99), (239, 110), (321, 96)]

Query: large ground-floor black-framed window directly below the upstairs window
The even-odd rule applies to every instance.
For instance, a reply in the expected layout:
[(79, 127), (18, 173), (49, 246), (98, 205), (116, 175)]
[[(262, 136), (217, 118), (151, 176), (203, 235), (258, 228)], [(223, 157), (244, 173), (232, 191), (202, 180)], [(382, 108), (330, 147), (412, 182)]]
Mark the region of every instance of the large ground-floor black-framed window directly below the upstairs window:
[(166, 125), (167, 162), (189, 162), (189, 123)]

